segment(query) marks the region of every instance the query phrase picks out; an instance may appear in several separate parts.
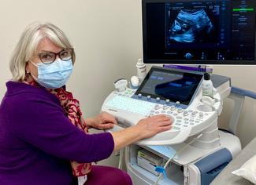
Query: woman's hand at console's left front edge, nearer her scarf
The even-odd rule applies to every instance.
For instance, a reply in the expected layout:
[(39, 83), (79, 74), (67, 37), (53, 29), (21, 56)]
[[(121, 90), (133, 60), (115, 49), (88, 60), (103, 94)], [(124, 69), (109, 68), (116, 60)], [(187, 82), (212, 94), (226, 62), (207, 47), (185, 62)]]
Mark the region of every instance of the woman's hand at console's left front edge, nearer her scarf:
[(117, 125), (117, 120), (113, 117), (113, 115), (107, 112), (102, 112), (94, 118), (88, 118), (85, 120), (85, 122), (89, 129), (94, 128), (99, 130), (112, 129), (113, 125)]

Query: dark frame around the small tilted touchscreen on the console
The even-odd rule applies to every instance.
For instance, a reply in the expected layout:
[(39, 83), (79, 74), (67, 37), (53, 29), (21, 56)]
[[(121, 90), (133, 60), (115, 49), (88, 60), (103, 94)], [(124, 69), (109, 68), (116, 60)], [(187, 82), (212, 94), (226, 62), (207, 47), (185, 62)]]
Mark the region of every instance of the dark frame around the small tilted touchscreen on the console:
[[(204, 74), (204, 72), (202, 72), (202, 71), (184, 71), (184, 70), (180, 70), (180, 69), (169, 69), (169, 68), (165, 68), (165, 67), (151, 67), (150, 71), (147, 73), (147, 76), (144, 78), (141, 85), (139, 85), (139, 89), (137, 89), (137, 91), (135, 92), (135, 96), (139, 96), (139, 94), (141, 94), (145, 100), (147, 100), (146, 99), (147, 96), (150, 96), (150, 98), (152, 98), (154, 101), (156, 101), (156, 98), (158, 97), (157, 95), (141, 92), (141, 90), (143, 89), (147, 80), (150, 78), (150, 75), (154, 71), (169, 72), (169, 73), (175, 73), (175, 74), (195, 74), (195, 75), (201, 76), (201, 80), (198, 83), (198, 86), (196, 87), (193, 96), (191, 96), (191, 100), (189, 101), (189, 103), (187, 103), (187, 104), (180, 103), (182, 105), (182, 107), (184, 107), (184, 108), (188, 107), (191, 104), (191, 102), (195, 99), (195, 96), (198, 94), (200, 87), (201, 87), (202, 80), (203, 80), (203, 74)], [(161, 101), (165, 102), (165, 100), (167, 100), (167, 99), (161, 98)], [(175, 103), (176, 102), (170, 101), (169, 105), (173, 105)]]

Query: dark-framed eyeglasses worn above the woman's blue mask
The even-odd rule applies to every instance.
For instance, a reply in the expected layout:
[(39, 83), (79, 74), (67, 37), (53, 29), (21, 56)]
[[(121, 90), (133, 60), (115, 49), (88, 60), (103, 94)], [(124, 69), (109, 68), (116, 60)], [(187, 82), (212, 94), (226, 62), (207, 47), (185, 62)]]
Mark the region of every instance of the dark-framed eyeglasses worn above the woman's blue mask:
[(39, 59), (41, 62), (45, 64), (53, 63), (56, 60), (56, 57), (59, 56), (61, 60), (67, 61), (72, 59), (74, 54), (74, 49), (66, 48), (61, 50), (59, 53), (53, 52), (45, 52), (45, 53), (38, 53)]

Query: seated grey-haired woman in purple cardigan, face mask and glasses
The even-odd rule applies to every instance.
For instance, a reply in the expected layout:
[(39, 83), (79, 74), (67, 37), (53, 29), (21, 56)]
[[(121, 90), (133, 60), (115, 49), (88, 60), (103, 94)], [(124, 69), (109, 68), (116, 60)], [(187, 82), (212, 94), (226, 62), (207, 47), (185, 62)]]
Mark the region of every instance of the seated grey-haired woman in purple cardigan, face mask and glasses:
[(75, 53), (53, 24), (34, 23), (20, 37), (10, 71), (13, 80), (0, 105), (0, 184), (131, 184), (119, 169), (91, 165), (137, 140), (171, 128), (165, 115), (145, 118), (119, 132), (106, 112), (83, 119), (79, 102), (65, 90)]

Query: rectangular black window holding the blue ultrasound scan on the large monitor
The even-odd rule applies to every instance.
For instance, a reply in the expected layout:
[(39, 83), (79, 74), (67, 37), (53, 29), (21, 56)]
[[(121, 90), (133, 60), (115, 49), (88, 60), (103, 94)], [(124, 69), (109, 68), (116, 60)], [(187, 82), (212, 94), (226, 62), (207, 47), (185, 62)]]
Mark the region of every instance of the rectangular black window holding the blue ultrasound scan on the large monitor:
[(204, 8), (198, 9), (195, 6), (191, 6), (188, 9), (166, 5), (168, 9), (166, 20), (167, 49), (175, 43), (217, 43), (217, 35), (219, 34), (217, 7), (206, 5)]

